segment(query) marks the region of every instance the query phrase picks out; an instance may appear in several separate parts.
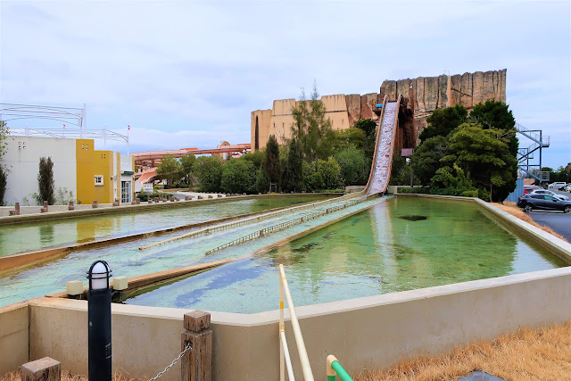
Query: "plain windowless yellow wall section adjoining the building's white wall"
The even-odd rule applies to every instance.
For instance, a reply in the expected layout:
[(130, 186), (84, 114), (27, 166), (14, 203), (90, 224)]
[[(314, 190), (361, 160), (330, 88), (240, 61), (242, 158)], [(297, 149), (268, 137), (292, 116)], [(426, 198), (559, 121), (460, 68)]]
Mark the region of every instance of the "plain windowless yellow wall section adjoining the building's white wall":
[(95, 200), (94, 141), (93, 139), (76, 139), (75, 142), (78, 203), (93, 203)]

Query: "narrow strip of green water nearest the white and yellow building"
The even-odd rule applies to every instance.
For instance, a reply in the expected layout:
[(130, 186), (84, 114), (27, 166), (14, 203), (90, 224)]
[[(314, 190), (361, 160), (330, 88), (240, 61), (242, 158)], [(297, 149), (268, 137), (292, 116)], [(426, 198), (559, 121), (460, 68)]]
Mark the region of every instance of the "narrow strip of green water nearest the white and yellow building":
[(0, 256), (31, 252), (63, 244), (75, 244), (93, 238), (124, 236), (160, 228), (174, 228), (195, 222), (265, 211), (297, 203), (310, 203), (326, 198), (324, 196), (264, 197), (165, 208), (156, 211), (113, 213), (0, 226)]

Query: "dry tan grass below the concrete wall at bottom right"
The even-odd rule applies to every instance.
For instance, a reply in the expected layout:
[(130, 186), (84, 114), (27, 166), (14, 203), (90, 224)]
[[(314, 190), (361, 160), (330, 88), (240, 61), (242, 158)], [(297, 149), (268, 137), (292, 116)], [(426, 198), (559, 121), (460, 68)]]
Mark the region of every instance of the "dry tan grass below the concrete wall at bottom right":
[(354, 379), (456, 380), (474, 370), (506, 380), (571, 379), (571, 321), (537, 330), (522, 328), (443, 356), (402, 361), (381, 371), (367, 370)]

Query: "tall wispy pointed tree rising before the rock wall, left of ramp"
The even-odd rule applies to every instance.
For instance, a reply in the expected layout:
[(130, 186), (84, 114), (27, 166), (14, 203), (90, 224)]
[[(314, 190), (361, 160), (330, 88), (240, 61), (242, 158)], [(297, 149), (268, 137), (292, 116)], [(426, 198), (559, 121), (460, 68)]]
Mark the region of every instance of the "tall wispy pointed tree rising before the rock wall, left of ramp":
[(300, 101), (292, 109), (292, 114), (292, 137), (301, 143), (306, 160), (326, 159), (332, 153), (335, 135), (331, 120), (326, 118), (325, 104), (319, 100), (315, 82), (311, 99), (308, 101), (302, 90)]

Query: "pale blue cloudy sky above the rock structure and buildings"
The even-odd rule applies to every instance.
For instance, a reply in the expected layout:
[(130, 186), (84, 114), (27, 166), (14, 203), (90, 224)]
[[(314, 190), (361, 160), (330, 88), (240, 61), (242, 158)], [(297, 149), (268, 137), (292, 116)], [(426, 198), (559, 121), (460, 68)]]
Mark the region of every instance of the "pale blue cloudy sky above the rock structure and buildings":
[(212, 148), (249, 143), (253, 110), (314, 80), (366, 94), (507, 69), (510, 110), (550, 136), (543, 165), (557, 168), (571, 162), (570, 23), (569, 1), (0, 0), (0, 102), (86, 104), (87, 128), (131, 126), (131, 153)]

